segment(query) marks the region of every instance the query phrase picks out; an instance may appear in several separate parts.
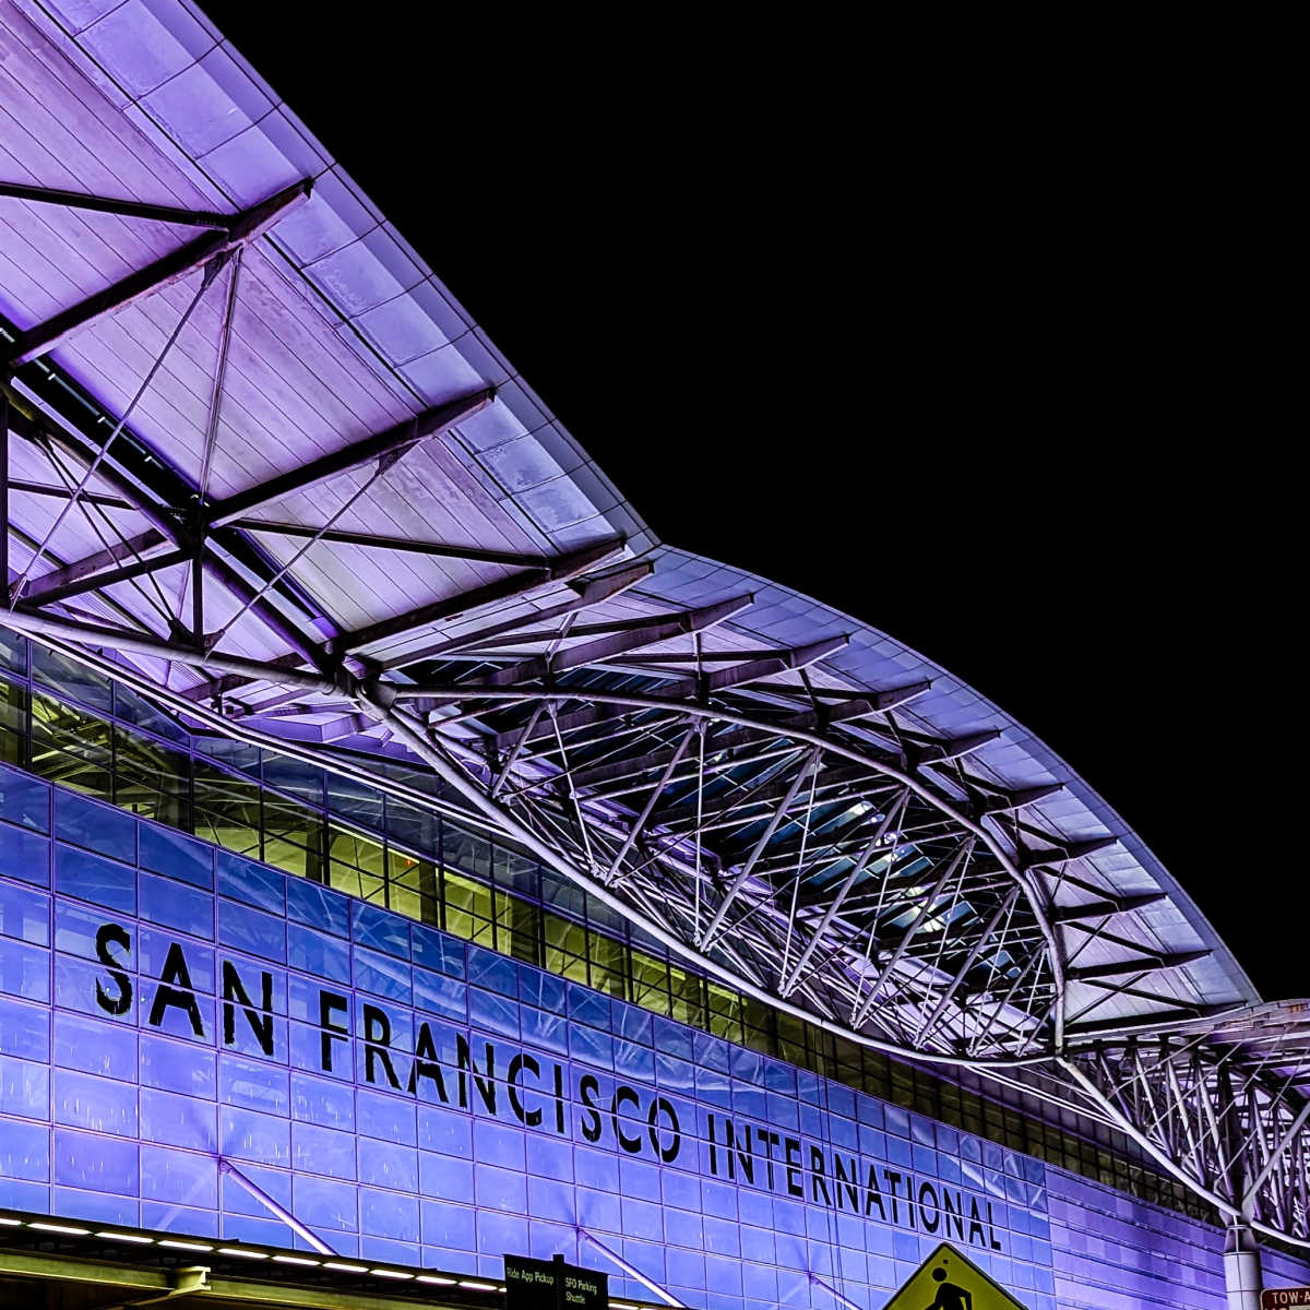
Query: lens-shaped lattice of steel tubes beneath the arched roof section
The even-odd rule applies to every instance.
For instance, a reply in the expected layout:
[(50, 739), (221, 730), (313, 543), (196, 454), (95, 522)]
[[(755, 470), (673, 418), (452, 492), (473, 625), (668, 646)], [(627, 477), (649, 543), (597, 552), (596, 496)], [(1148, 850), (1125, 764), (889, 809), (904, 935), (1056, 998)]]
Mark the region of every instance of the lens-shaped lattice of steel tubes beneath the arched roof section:
[(772, 713), (749, 692), (595, 690), (586, 671), (550, 690), (388, 694), (447, 723), (476, 706), (485, 758), (466, 739), (424, 744), (461, 760), (448, 781), (774, 1003), (799, 997), (904, 1055), (1058, 1047), (1064, 962), (1032, 872), (1041, 853), (1001, 821), (1024, 798), (972, 779), (972, 795), (951, 795), (889, 745), (886, 711), (821, 696), (806, 709), (790, 693), (783, 707), (781, 688)]

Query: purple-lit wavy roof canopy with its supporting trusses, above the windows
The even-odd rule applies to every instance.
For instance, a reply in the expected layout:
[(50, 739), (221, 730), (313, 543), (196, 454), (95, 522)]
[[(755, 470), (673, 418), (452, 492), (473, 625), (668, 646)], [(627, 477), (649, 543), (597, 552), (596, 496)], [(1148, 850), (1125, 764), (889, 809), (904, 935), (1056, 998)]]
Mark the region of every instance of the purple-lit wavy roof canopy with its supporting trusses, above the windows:
[(1256, 1005), (1000, 709), (658, 542), (198, 10), (13, 0), (0, 43), (0, 621), (193, 720), (423, 761), (710, 972), (918, 1058)]

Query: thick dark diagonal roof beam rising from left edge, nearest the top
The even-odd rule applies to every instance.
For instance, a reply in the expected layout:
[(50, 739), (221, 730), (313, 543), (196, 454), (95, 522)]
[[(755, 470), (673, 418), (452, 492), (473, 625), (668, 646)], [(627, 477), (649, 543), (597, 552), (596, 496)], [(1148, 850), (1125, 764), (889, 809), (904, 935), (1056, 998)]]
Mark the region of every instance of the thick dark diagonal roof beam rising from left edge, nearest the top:
[(207, 236), (198, 237), (144, 269), (134, 270), (119, 282), (105, 287), (103, 291), (97, 291), (96, 295), (71, 305), (55, 314), (54, 318), (20, 333), (18, 339), (9, 350), (9, 367), (17, 368), (48, 354), (75, 333), (117, 314), (144, 296), (153, 295), (156, 291), (162, 291), (173, 283), (189, 278), (211, 259), (254, 241), (279, 219), (286, 217), (297, 204), (307, 200), (310, 186), (308, 179), (288, 186), (284, 191), (279, 191), (237, 215), (225, 231), (210, 232)]

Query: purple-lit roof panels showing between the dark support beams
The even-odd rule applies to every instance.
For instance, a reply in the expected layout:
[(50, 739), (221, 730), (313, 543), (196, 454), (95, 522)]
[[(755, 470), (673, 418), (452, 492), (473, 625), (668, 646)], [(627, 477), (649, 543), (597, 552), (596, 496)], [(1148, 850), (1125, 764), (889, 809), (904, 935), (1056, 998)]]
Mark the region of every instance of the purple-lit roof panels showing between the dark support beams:
[[(1170, 971), (1159, 986), (1179, 1000), (1222, 1003), (1254, 997), (1213, 929), (1131, 828), (997, 706), (893, 638), (820, 601), (655, 542), (637, 511), (473, 316), (194, 7), (179, 0), (103, 5), (60, 0), (45, 7), (12, 0), (0, 9), (0, 39), (7, 46), (0, 114), (21, 124), (7, 132), (0, 155), (9, 179), (223, 212), (253, 206), (301, 179), (313, 182), (308, 200), (276, 221), (267, 240), (244, 248), (231, 318), (225, 301), (232, 263), (198, 300), (202, 279), (194, 272), (52, 352), (54, 362), (110, 414), (134, 406), (132, 431), (183, 485), (198, 485), (207, 470), (210, 498), (228, 496), (491, 385), (496, 390), (490, 405), (405, 451), (388, 468), (369, 465), (316, 485), (312, 493), (288, 491), (250, 517), (549, 558), (624, 538), (624, 558), (647, 561), (654, 571), (590, 608), (584, 624), (639, 622), (751, 593), (749, 609), (709, 627), (698, 638), (700, 650), (803, 647), (846, 637), (845, 646), (814, 664), (820, 685), (884, 692), (929, 683), (897, 707), (900, 730), (941, 740), (993, 731), (994, 739), (971, 748), (976, 777), (1013, 790), (1062, 783), (1064, 790), (1032, 811), (1049, 837), (1117, 840), (1112, 849), (1083, 857), (1083, 874), (1103, 879), (1107, 891), (1169, 893), (1167, 904), (1125, 917), (1117, 935), (1141, 950), (1205, 947), (1210, 955)], [(178, 250), (193, 236), (194, 231), (157, 221), (0, 200), (0, 305), (12, 324), (28, 329), (109, 287), (124, 270)], [(141, 379), (193, 300), (189, 320), (143, 390)], [(211, 445), (224, 331), (225, 385)], [(38, 409), (46, 403), (34, 394), (29, 400)], [(48, 477), (48, 468), (43, 470), (31, 456), (24, 460), (14, 476)], [(72, 476), (81, 477), (81, 470)], [(88, 490), (113, 489), (97, 477)], [(59, 504), (38, 500), (18, 494), (14, 502), (16, 516), (35, 540), (54, 525)], [(141, 527), (119, 511), (109, 511), (106, 531), (110, 523), (124, 534)], [(33, 569), (34, 578), (54, 571), (60, 559), (83, 558), (102, 545), (81, 515), (68, 515), (56, 536)], [(255, 540), (275, 582), (286, 586), (261, 584), (249, 562), (236, 561), (233, 567), (244, 570), (253, 587), (262, 586), (259, 596), (288, 621), (304, 597), (316, 600), (317, 612), (297, 621), (324, 638), (424, 605), (458, 605), (461, 597), (476, 597), (466, 609), (443, 612), (426, 626), (368, 642), (364, 654), (383, 665), (489, 624), (504, 625), (514, 616), (558, 610), (578, 595), (576, 587), (552, 579), (516, 591), (520, 571), (500, 563), (286, 533), (258, 533)], [(26, 570), (29, 559), (30, 552), (14, 549), (16, 569)], [(608, 559), (605, 569), (617, 559)], [(182, 566), (161, 579), (166, 592), (185, 590)], [(114, 583), (84, 605), (106, 621), (117, 604), (121, 613), (149, 622), (143, 595), (136, 583)], [(238, 625), (244, 648), (259, 659), (287, 654), (266, 627), (242, 617), (249, 605), (234, 600), (229, 588), (207, 582), (206, 597), (207, 626), (227, 631)], [(874, 590), (870, 609), (876, 607)], [(586, 639), (561, 630), (553, 647), (567, 651)], [(643, 656), (647, 663), (631, 669), (648, 669), (662, 656), (675, 669), (685, 668), (677, 660), (685, 660), (688, 641), (651, 643)], [(541, 643), (525, 643), (525, 651), (540, 648)], [(138, 664), (155, 667), (145, 655)], [(174, 685), (202, 681), (194, 672), (174, 671)], [(799, 680), (783, 673), (777, 685), (795, 689)], [(249, 696), (257, 705), (284, 698), (258, 686)], [(308, 717), (303, 727), (313, 731), (316, 722)], [(956, 786), (941, 770), (937, 776), (946, 791)], [(1057, 904), (1061, 895), (1057, 880)], [(1083, 948), (1070, 945), (1070, 951), (1078, 950), (1103, 963), (1125, 947), (1102, 937)], [(1072, 992), (1076, 1003), (1085, 992), (1095, 998), (1078, 984)], [(1129, 1014), (1141, 1005), (1128, 992), (1102, 996), (1098, 1015)]]

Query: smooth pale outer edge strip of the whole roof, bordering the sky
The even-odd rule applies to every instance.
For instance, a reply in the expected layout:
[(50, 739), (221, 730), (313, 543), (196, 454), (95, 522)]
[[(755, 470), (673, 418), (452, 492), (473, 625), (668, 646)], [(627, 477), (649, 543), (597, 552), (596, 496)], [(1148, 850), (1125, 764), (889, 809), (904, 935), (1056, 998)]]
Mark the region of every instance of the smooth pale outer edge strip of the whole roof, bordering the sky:
[[(1091, 836), (1102, 829), (1115, 834), (1141, 870), (1170, 892), (1172, 904), (1191, 929), (1213, 948), (1212, 962), (1197, 965), (1196, 969), (1204, 972), (1209, 968), (1213, 977), (1213, 969), (1218, 968), (1237, 996), (1243, 1000), (1255, 998), (1250, 980), (1213, 927), (1141, 838), (1074, 770), (990, 701), (916, 651), (866, 624), (857, 624), (831, 607), (774, 583), (758, 580), (758, 588), (752, 587), (748, 583), (756, 579), (743, 570), (700, 559), (659, 544), (630, 503), (621, 498), (587, 452), (558, 424), (536, 392), (477, 328), (472, 316), (455, 301), (413, 246), (386, 225), (381, 212), (190, 0), (164, 0), (155, 7), (155, 17), (165, 29), (172, 25), (174, 37), (190, 25), (203, 31), (206, 41), (200, 45), (182, 41), (178, 48), (183, 51), (183, 56), (170, 51), (168, 59), (152, 47), (145, 52), (149, 58), (139, 64), (132, 60), (140, 52), (134, 54), (131, 47), (97, 47), (93, 39), (88, 39), (88, 33), (109, 16), (113, 5), (105, 5), (85, 21), (69, 20), (60, 25), (51, 17), (51, 10), (62, 12), (58, 0), (52, 0), (48, 7), (38, 5), (35, 0), (16, 3), (31, 22), (59, 43), (79, 68), (109, 90), (121, 107), (128, 103), (135, 107), (138, 126), (169, 159), (183, 168), (206, 196), (224, 196), (233, 210), (241, 210), (287, 185), (305, 177), (314, 178), (312, 203), (325, 207), (316, 212), (324, 224), (329, 219), (335, 224), (331, 229), (335, 236), (324, 238), (322, 225), (316, 228), (310, 224), (307, 228), (303, 211), (279, 223), (272, 231), (272, 240), (288, 269), (304, 278), (318, 297), (331, 307), (343, 329), (354, 334), (358, 352), (367, 356), (379, 376), (385, 376), (390, 383), (400, 381), (413, 394), (415, 406), (439, 402), (441, 397), (424, 392), (421, 373), (415, 371), (415, 362), (427, 358), (413, 354), (418, 339), (402, 339), (403, 334), (397, 335), (394, 331), (388, 335), (379, 328), (379, 309), (401, 301), (427, 325), (417, 331), (419, 337), (430, 334), (430, 343), (435, 343), (431, 354), (456, 351), (462, 367), (474, 369), (483, 384), (498, 388), (502, 403), (516, 427), (478, 436), (461, 432), (462, 449), (481, 469), (487, 486), (493, 490), (499, 487), (503, 503), (512, 504), (558, 553), (575, 550), (600, 536), (622, 536), (635, 558), (651, 558), (658, 563), (655, 576), (639, 588), (648, 597), (696, 608), (713, 604), (728, 593), (757, 590), (757, 605), (745, 617), (727, 626), (766, 637), (768, 645), (774, 646), (804, 645), (840, 631), (853, 631), (849, 646), (824, 662), (842, 679), (875, 690), (920, 679), (931, 680), (931, 689), (913, 703), (914, 715), (947, 739), (959, 739), (979, 728), (1000, 728), (1001, 738), (980, 747), (975, 758), (1017, 786), (1062, 782), (1069, 795), (1082, 807), (1086, 832), (1078, 834)], [(79, 7), (77, 12), (85, 14), (88, 9)], [(198, 139), (199, 127), (187, 117), (191, 110), (186, 107), (186, 97), (164, 101), (159, 96), (161, 86), (174, 85), (202, 63), (206, 64), (204, 73), (210, 80), (214, 102), (227, 105), (224, 117), (231, 119), (231, 132), (216, 144), (206, 141), (206, 149), (189, 144)], [(161, 80), (149, 83), (149, 77)], [(252, 97), (263, 101), (258, 111), (252, 107)], [(223, 131), (228, 132), (228, 127)], [(309, 206), (304, 208), (308, 210)], [(301, 227), (296, 227), (297, 223)], [(373, 248), (384, 238), (385, 259)], [(333, 245), (334, 241), (338, 244)], [(403, 271), (396, 274), (400, 278), (397, 293), (381, 307), (362, 309), (352, 305), (350, 293), (359, 287), (351, 282), (348, 270), (342, 271), (348, 263), (345, 258), (347, 253), (351, 258), (375, 261), (376, 267), (371, 265), (371, 272), (381, 269), (392, 275), (394, 269), (386, 261), (392, 261), (394, 267), (403, 266)], [(316, 274), (316, 270), (330, 261), (334, 261), (335, 280)], [(418, 341), (418, 345), (422, 342)], [(540, 456), (537, 466), (541, 472), (533, 474), (538, 481), (514, 486), (511, 490), (498, 464), (496, 452), (504, 453), (517, 443), (533, 444), (533, 455)], [(519, 466), (521, 468), (521, 461)], [(692, 576), (697, 570), (698, 575)], [(1204, 982), (1197, 981), (1201, 972), (1192, 972), (1189, 977), (1204, 992)]]

